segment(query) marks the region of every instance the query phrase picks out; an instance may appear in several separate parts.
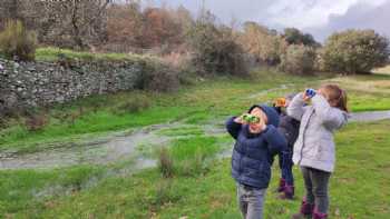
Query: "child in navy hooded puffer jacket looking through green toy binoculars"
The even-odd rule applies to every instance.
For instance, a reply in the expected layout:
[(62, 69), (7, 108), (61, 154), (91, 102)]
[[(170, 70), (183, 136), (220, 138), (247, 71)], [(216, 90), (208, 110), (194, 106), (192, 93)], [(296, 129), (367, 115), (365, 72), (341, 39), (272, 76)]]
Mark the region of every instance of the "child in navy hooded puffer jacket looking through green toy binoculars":
[(226, 129), (236, 140), (232, 156), (232, 177), (237, 182), (237, 199), (245, 219), (262, 219), (273, 157), (285, 150), (286, 141), (277, 131), (279, 115), (272, 107), (253, 106), (248, 113), (259, 121), (247, 123), (243, 117), (227, 120)]

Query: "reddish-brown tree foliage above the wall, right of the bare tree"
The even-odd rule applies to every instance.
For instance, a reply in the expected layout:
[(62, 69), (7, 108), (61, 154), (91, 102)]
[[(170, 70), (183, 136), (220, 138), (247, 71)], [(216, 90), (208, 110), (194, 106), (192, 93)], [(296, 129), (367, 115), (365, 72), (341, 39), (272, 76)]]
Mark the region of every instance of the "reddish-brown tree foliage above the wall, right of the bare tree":
[(108, 9), (108, 44), (114, 50), (176, 47), (183, 43), (183, 33), (191, 22), (191, 13), (183, 7), (142, 10), (136, 1), (113, 4)]

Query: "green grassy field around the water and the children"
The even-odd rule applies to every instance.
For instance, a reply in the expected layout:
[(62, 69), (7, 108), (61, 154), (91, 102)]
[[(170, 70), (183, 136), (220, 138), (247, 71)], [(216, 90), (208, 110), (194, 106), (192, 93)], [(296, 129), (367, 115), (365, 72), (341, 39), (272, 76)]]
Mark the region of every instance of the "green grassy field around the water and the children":
[[(47, 111), (49, 123), (40, 131), (28, 131), (23, 118), (9, 121), (9, 127), (0, 131), (0, 151), (45, 150), (56, 142), (168, 121), (202, 127), (205, 121), (241, 113), (252, 103), (272, 101), (326, 81), (348, 90), (352, 111), (390, 109), (386, 98), (389, 79), (386, 74), (302, 78), (260, 70), (248, 79), (207, 79), (177, 93), (136, 91), (91, 97)], [(130, 112), (131, 99), (147, 99), (148, 103)], [(72, 113), (78, 115), (74, 121), (61, 119)], [(389, 121), (351, 123), (337, 135), (331, 218), (390, 217), (389, 128)], [(170, 161), (164, 171), (154, 168), (134, 172), (130, 159), (108, 166), (0, 171), (0, 218), (240, 218), (230, 160), (216, 158), (233, 145), (232, 139), (227, 135), (207, 137), (196, 128), (160, 135), (189, 132), (195, 135), (174, 140), (159, 153)], [(299, 208), (302, 178), (295, 169), (295, 201), (277, 200), (271, 191), (277, 181), (274, 168), (265, 218), (285, 219)]]

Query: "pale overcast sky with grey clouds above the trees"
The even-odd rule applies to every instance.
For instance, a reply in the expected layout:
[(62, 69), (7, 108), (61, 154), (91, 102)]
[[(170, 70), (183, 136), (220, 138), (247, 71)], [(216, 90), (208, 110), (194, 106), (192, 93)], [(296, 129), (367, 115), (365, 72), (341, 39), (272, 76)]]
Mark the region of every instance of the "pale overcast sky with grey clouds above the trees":
[[(149, 0), (153, 1), (153, 0)], [(154, 0), (179, 4), (194, 13), (202, 0)], [(349, 28), (370, 28), (390, 37), (390, 0), (205, 0), (205, 8), (221, 21), (257, 21), (270, 28), (296, 27), (323, 41), (330, 33)]]

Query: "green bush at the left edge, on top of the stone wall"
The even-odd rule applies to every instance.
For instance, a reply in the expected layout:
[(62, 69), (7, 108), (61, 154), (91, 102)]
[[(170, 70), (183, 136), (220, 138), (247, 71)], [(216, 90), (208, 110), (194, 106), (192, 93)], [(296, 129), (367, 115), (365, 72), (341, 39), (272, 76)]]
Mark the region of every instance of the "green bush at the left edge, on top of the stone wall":
[(33, 61), (37, 37), (26, 30), (20, 21), (9, 21), (0, 33), (0, 50), (8, 59), (18, 57), (21, 61)]

